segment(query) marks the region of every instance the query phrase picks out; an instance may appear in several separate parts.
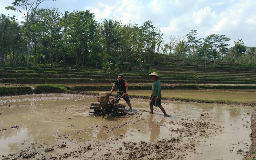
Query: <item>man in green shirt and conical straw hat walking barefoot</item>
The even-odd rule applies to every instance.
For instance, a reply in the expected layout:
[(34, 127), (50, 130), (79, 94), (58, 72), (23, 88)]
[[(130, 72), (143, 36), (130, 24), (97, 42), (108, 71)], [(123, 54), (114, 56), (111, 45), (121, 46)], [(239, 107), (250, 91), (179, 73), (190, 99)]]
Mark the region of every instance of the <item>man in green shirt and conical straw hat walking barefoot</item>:
[(166, 114), (164, 108), (162, 107), (162, 104), (161, 104), (161, 82), (160, 80), (158, 80), (158, 78), (160, 78), (158, 76), (158, 74), (156, 72), (153, 72), (151, 74), (148, 75), (149, 77), (151, 77), (154, 82), (152, 84), (152, 95), (150, 96), (149, 100), (150, 100), (150, 111), (151, 111), (151, 114), (154, 114), (154, 109), (153, 109), (153, 105), (156, 106), (156, 107), (159, 107), (162, 112), (164, 113), (165, 116), (169, 116), (168, 114)]

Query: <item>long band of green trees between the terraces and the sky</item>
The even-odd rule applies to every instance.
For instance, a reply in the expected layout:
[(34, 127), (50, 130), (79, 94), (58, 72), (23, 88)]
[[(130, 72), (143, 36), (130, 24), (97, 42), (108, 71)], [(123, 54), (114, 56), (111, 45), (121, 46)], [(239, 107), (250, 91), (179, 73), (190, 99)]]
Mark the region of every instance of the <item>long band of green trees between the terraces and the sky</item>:
[[(20, 3), (6, 8), (24, 11), (25, 1), (16, 1)], [(14, 16), (0, 15), (2, 65), (93, 66), (110, 72), (179, 60), (187, 64), (199, 60), (204, 65), (208, 61), (256, 63), (256, 47), (244, 46), (242, 39), (228, 48), (230, 39), (225, 35), (198, 38), (197, 31), (191, 30), (184, 37), (170, 35), (169, 41), (164, 42), (160, 28), (150, 20), (142, 26), (112, 19), (98, 22), (89, 10), (65, 11), (60, 16), (57, 8), (36, 8), (24, 14), (22, 23)]]

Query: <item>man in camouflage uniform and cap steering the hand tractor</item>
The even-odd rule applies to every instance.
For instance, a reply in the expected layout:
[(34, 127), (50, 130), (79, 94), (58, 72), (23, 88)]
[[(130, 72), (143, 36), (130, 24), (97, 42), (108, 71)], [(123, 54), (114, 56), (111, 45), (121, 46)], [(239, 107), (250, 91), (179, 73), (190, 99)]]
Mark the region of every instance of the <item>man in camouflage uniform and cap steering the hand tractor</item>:
[[(117, 92), (116, 98), (119, 98), (120, 96), (122, 96), (125, 93), (126, 96), (123, 97), (123, 98), (126, 101), (126, 103), (128, 104), (128, 106), (130, 107), (130, 109), (132, 109), (132, 105), (130, 103), (130, 99), (129, 99), (128, 94), (127, 94), (127, 92), (128, 92), (128, 84), (127, 84), (126, 80), (124, 80), (122, 74), (118, 74), (118, 79), (114, 82), (114, 84), (112, 86), (112, 89), (110, 91), (110, 94), (113, 92), (115, 87), (118, 88), (117, 91), (120, 91), (120, 92)], [(124, 93), (122, 93), (122, 92), (124, 92)]]

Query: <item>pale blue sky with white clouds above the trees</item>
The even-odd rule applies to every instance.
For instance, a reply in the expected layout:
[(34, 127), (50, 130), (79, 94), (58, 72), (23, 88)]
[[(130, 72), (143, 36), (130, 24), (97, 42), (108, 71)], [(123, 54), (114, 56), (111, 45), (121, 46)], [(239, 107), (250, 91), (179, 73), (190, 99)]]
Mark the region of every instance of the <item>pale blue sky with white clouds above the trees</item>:
[[(0, 0), (0, 13), (20, 17), (6, 10), (14, 0)], [(164, 40), (170, 35), (185, 36), (192, 29), (198, 38), (211, 34), (226, 35), (233, 41), (243, 39), (244, 45), (256, 47), (256, 0), (57, 0), (45, 1), (39, 8), (58, 8), (60, 12), (90, 10), (97, 21), (130, 20), (141, 26), (151, 20), (161, 27)]]

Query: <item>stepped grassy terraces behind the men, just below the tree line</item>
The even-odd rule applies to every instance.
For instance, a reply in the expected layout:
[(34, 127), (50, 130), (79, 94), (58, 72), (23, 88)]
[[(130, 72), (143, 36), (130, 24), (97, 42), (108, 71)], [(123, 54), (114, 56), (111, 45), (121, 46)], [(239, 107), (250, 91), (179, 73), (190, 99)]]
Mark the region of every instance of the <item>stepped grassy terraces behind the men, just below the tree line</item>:
[[(255, 69), (216, 68), (176, 68), (156, 67), (162, 84), (196, 84), (195, 76), (200, 76), (198, 84), (256, 84)], [(93, 84), (111, 83), (118, 73), (102, 73), (68, 68), (22, 68), (0, 67), (0, 83), (8, 84)], [(151, 83), (148, 74), (123, 73), (128, 83)]]

